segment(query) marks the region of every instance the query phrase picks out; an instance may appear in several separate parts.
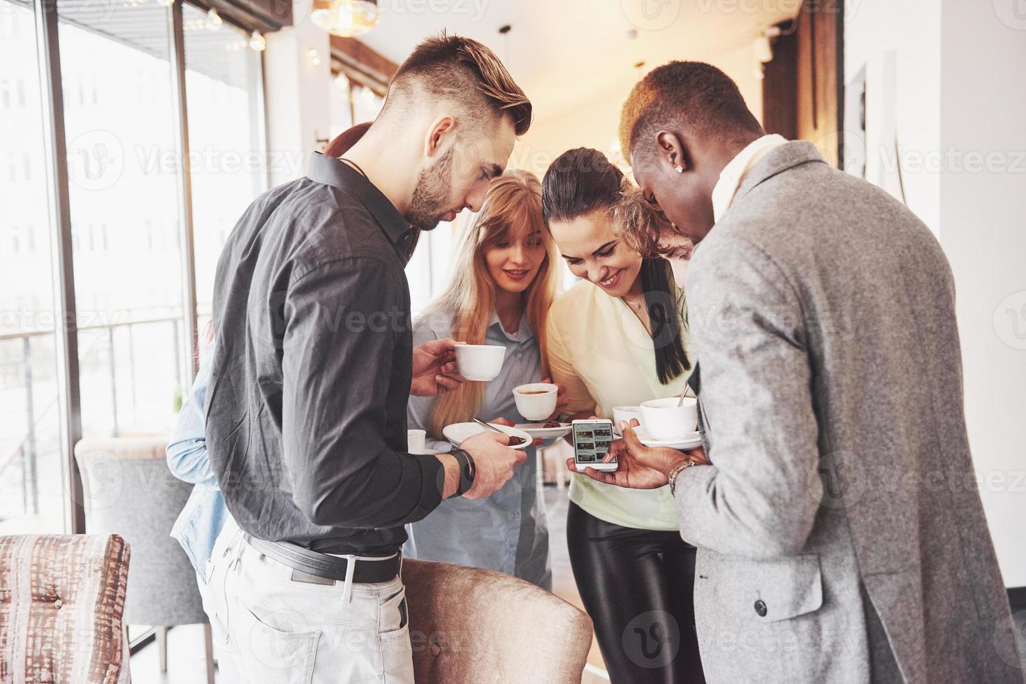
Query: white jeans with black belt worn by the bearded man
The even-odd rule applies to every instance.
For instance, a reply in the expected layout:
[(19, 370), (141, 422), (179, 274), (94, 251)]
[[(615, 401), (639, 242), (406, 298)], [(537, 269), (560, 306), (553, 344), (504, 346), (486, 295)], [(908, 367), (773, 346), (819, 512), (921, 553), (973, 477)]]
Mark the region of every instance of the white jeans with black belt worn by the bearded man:
[(239, 684), (413, 684), (402, 579), (333, 586), (291, 579), (229, 522), (207, 568), (204, 609), (224, 679)]

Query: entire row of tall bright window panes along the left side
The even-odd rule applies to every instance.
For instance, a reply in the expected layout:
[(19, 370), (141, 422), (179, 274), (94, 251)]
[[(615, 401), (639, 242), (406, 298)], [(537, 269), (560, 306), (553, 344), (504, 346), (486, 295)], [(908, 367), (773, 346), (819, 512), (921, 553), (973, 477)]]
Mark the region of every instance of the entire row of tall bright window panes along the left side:
[[(221, 247), (267, 177), (263, 39), (251, 30), (190, 5), (173, 27), (169, 0), (56, 0), (57, 71), (39, 64), (42, 1), (0, 0), (0, 534), (81, 531), (66, 524), (65, 445), (78, 417), (83, 437), (167, 434), (190, 375), (187, 321), (209, 310)], [(64, 107), (61, 157), (51, 92)], [(66, 188), (51, 168), (67, 170)], [(183, 268), (184, 206), (194, 274)], [(198, 311), (187, 306), (192, 277)], [(78, 334), (66, 343), (55, 283), (68, 278)], [(77, 375), (65, 384), (57, 359), (74, 341)]]

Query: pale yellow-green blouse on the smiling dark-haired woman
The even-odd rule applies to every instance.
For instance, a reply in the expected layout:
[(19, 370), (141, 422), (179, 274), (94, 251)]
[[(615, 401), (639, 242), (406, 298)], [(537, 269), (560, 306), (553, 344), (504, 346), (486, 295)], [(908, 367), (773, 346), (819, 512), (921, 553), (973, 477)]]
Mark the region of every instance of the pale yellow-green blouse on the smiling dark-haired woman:
[[(683, 335), (687, 350), (686, 329)], [(566, 388), (571, 412), (594, 410), (611, 418), (615, 406), (680, 394), (689, 374), (662, 385), (644, 325), (622, 299), (588, 281), (552, 305), (547, 345), (552, 379)], [(596, 518), (635, 529), (680, 528), (669, 487), (625, 489), (585, 475), (573, 478), (570, 500)]]

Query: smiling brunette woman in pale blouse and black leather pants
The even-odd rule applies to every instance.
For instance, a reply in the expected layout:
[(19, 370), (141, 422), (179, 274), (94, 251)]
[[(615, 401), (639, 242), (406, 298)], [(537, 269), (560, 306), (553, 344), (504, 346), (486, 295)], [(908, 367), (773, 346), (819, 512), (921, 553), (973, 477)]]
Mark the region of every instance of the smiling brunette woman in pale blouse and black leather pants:
[[(596, 150), (571, 150), (545, 175), (544, 212), (562, 258), (582, 279), (549, 314), (553, 379), (579, 417), (684, 390), (683, 293), (669, 264), (643, 258), (623, 220), (658, 220)], [(568, 467), (573, 470), (573, 460)], [(613, 682), (702, 682), (692, 589), (695, 548), (680, 538), (668, 487), (628, 490), (575, 474), (570, 566)]]

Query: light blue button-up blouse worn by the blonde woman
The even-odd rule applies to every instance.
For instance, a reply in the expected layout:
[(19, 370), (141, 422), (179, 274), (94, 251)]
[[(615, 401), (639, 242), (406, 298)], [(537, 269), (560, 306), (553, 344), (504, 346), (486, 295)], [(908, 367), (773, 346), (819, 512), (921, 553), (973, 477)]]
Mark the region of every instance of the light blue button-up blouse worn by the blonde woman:
[[(450, 312), (429, 311), (413, 327), (415, 346), (451, 336)], [(543, 379), (538, 339), (526, 315), (520, 319), (515, 333), (506, 332), (498, 315), (494, 316), (484, 344), (505, 347), (506, 359), (499, 376), (487, 384), (478, 417), (529, 423), (517, 412), (513, 400), (513, 388)], [(409, 398), (407, 419), (410, 429), (429, 429), (434, 402), (431, 397)], [(468, 415), (466, 419), (472, 417)], [(451, 444), (429, 435), (427, 447), (448, 451)], [(407, 525), (409, 540), (403, 554), (409, 558), (498, 570), (551, 591), (549, 528), (545, 500), (539, 490), (537, 457), (537, 449), (528, 447), (526, 462), (518, 466), (513, 478), (491, 496), (444, 500), (427, 518)]]

